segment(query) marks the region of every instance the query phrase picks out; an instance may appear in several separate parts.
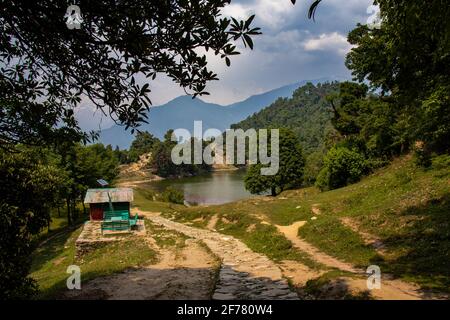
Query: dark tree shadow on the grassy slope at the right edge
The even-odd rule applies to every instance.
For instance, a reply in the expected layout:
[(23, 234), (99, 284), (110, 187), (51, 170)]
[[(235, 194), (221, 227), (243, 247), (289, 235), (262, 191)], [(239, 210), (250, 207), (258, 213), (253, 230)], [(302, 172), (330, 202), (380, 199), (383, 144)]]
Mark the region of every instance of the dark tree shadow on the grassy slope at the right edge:
[(402, 232), (383, 239), (401, 255), (386, 266), (396, 276), (410, 278), (424, 289), (450, 292), (450, 194), (411, 206)]

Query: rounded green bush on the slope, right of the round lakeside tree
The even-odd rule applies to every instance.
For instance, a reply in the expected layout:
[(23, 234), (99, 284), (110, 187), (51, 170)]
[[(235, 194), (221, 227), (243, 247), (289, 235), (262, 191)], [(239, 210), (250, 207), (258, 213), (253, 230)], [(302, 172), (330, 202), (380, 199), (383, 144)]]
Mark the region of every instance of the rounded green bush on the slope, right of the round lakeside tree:
[(361, 154), (345, 147), (334, 147), (325, 156), (316, 186), (322, 191), (344, 187), (359, 181), (366, 172), (367, 163)]

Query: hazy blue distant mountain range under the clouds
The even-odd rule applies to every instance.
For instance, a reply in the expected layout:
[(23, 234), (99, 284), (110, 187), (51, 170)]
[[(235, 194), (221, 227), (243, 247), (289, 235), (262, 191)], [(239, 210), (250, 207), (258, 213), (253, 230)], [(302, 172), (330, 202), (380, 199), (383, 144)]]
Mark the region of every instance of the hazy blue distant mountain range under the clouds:
[[(199, 98), (192, 99), (190, 96), (180, 96), (164, 105), (150, 108), (149, 123), (140, 126), (139, 130), (149, 131), (161, 139), (169, 129), (184, 128), (192, 133), (194, 121), (201, 120), (203, 122), (203, 131), (209, 128), (224, 131), (231, 124), (237, 123), (260, 111), (278, 98), (291, 97), (297, 88), (307, 82), (317, 84), (331, 80), (335, 79), (305, 80), (257, 94), (227, 106), (204, 102)], [(133, 139), (130, 129), (126, 131), (123, 126), (114, 125), (100, 132), (100, 142), (105, 145), (111, 144), (113, 147), (119, 146), (121, 149), (127, 149)]]

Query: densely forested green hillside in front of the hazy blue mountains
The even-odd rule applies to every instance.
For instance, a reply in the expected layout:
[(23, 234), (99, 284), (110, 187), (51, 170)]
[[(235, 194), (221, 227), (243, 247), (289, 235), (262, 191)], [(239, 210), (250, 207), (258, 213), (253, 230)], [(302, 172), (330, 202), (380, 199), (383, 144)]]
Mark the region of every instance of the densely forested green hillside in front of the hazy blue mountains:
[(233, 129), (242, 128), (290, 128), (299, 137), (305, 155), (324, 149), (327, 137), (331, 137), (333, 116), (326, 96), (336, 93), (339, 83), (312, 83), (294, 91), (292, 98), (279, 98), (267, 108), (233, 124)]

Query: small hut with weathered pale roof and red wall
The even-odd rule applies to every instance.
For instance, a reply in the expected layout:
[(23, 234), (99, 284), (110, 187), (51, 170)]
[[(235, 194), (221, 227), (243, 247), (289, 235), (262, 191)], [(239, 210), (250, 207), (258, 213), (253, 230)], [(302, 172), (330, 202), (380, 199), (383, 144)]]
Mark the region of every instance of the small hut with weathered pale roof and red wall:
[(89, 204), (91, 220), (103, 220), (104, 211), (127, 210), (133, 201), (131, 188), (88, 189), (84, 203)]

